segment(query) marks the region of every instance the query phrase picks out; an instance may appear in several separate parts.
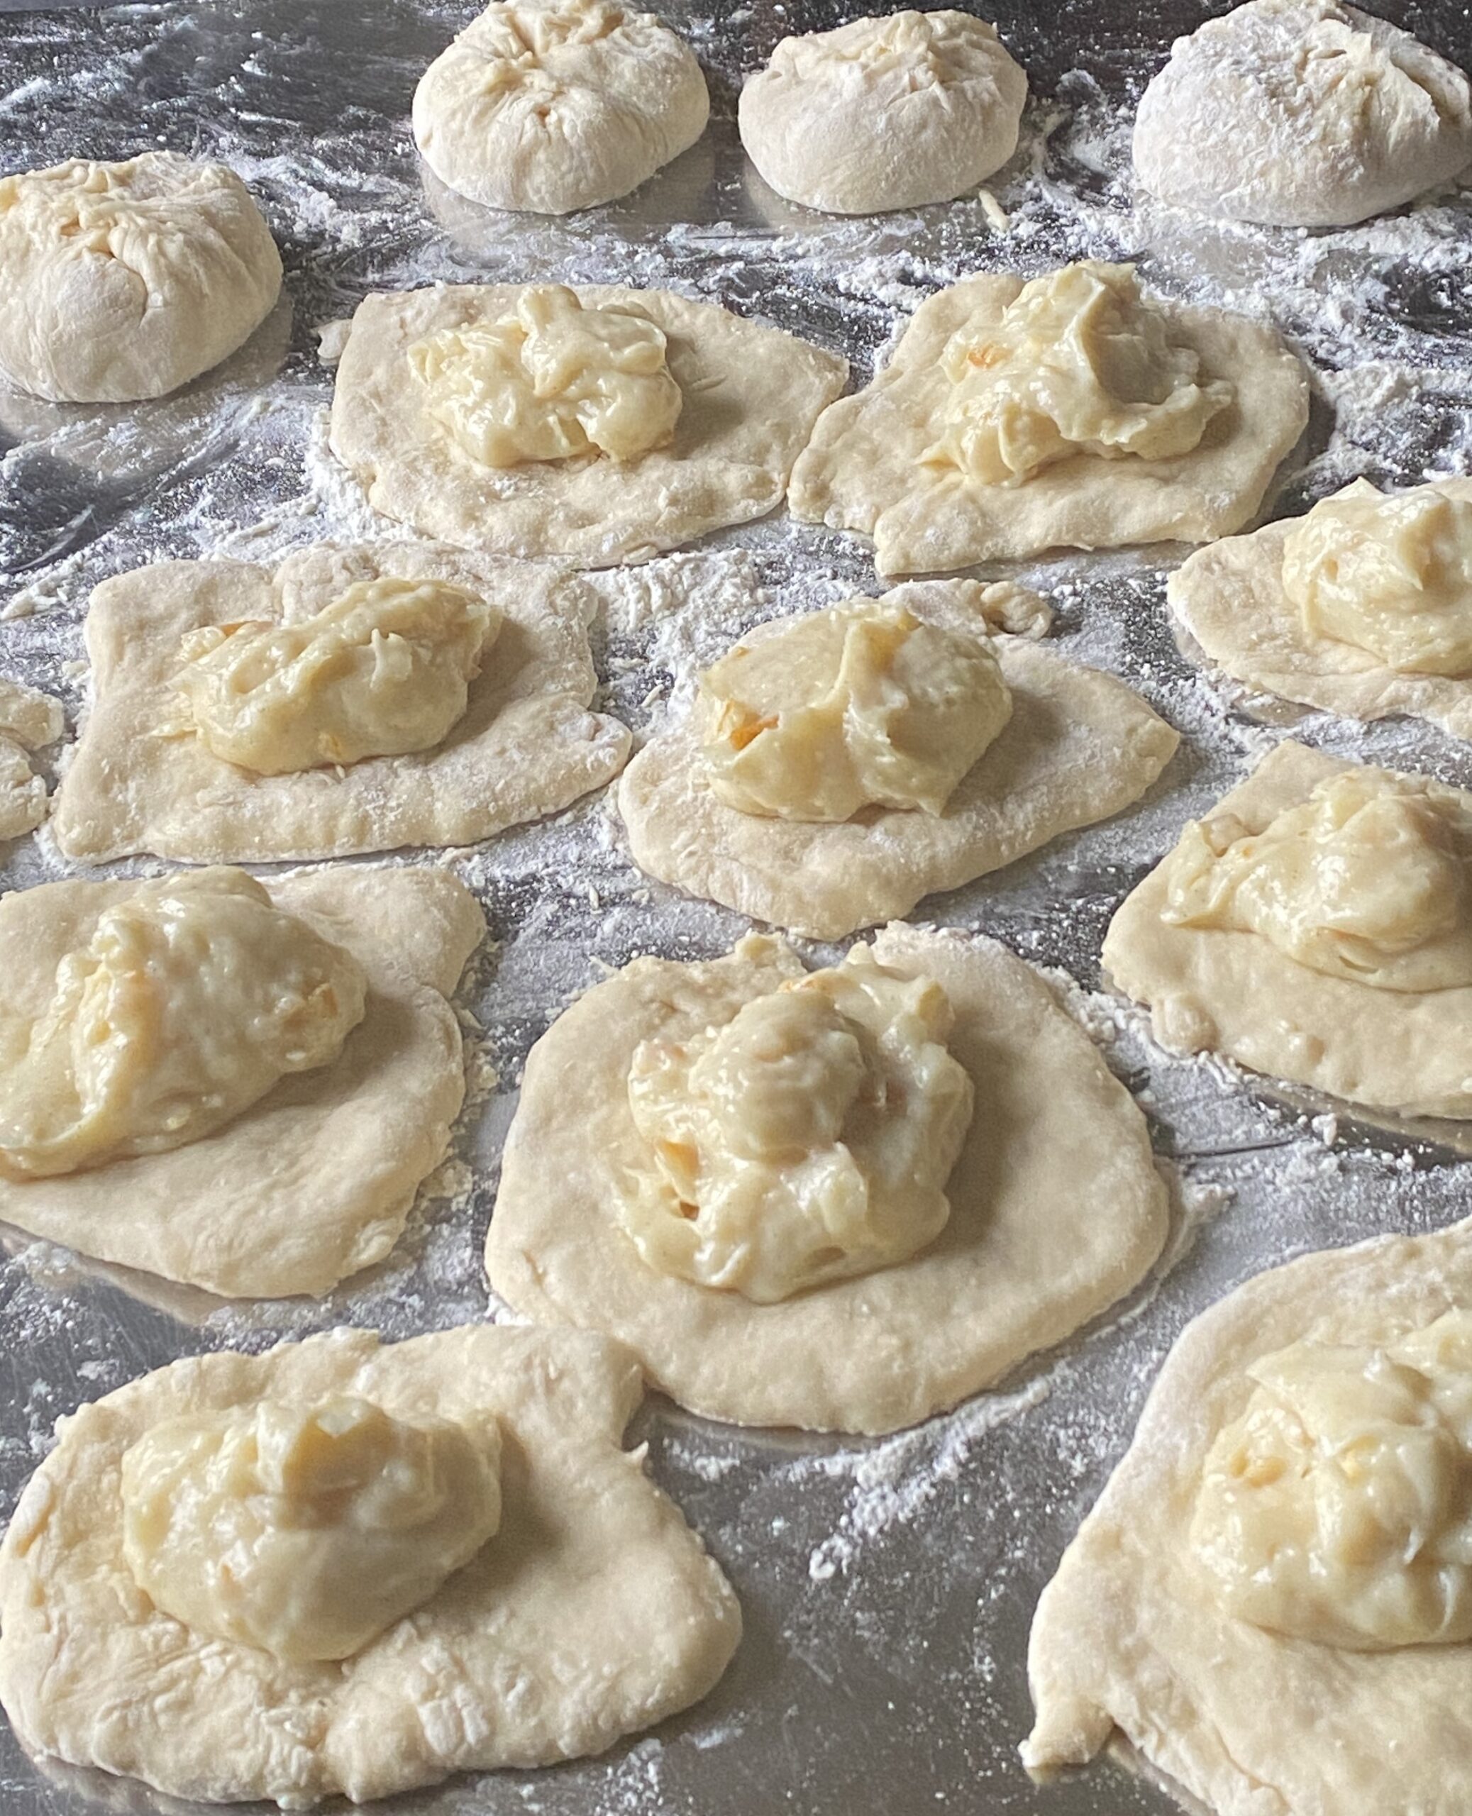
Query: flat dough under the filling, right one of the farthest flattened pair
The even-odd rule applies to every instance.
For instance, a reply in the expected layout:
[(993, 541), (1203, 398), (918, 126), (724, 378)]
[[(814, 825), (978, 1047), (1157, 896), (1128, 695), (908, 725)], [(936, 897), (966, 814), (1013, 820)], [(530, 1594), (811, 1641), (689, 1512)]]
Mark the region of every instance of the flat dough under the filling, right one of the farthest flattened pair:
[(1189, 454), (1084, 452), (1022, 485), (980, 485), (929, 458), (953, 400), (944, 367), (951, 338), (995, 329), (1022, 289), (1022, 278), (986, 276), (929, 296), (884, 370), (819, 418), (793, 469), (791, 514), (873, 536), (880, 574), (931, 574), (1058, 547), (1209, 541), (1245, 523), (1309, 421), (1309, 385), (1271, 327), (1220, 309), (1151, 300), (1171, 341), (1200, 358), (1202, 385), (1234, 390)]

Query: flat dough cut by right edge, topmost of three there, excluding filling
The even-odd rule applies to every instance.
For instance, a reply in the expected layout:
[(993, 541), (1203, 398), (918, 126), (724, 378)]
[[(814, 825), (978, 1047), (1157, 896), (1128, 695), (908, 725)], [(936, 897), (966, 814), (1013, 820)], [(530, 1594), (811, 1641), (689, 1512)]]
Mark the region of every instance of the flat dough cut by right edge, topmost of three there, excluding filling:
[[(1356, 479), (1336, 498), (1363, 496)], [(1439, 494), (1472, 507), (1472, 479), (1438, 479), (1399, 498)], [(1312, 514), (1310, 514), (1312, 516)], [(1350, 719), (1408, 714), (1472, 739), (1472, 674), (1390, 668), (1354, 643), (1323, 637), (1303, 623), (1283, 588), (1283, 545), (1303, 518), (1269, 523), (1251, 536), (1198, 548), (1165, 585), (1165, 597), (1200, 648), (1236, 681)], [(1472, 601), (1468, 601), (1472, 603)]]

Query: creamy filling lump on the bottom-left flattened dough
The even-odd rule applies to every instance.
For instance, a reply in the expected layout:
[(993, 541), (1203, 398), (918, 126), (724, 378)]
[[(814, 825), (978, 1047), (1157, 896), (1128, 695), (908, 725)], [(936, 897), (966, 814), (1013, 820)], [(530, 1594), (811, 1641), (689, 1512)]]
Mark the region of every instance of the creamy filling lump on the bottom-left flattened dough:
[(196, 1633), (350, 1658), (501, 1524), (499, 1438), (350, 1395), (185, 1413), (123, 1453), (123, 1556)]

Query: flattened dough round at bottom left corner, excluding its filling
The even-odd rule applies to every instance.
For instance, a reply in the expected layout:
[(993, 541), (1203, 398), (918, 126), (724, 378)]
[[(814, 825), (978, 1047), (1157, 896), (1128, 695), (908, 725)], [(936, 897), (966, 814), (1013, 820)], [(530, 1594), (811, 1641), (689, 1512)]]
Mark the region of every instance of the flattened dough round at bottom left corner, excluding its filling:
[[(343, 1665), (287, 1665), (160, 1614), (122, 1553), (129, 1446), (176, 1415), (330, 1395), (408, 1420), (496, 1420), (496, 1538)], [(597, 1754), (688, 1707), (735, 1651), (741, 1611), (643, 1451), (619, 1447), (639, 1398), (617, 1344), (470, 1326), (192, 1357), (83, 1406), (0, 1547), (0, 1700), (16, 1734), (172, 1796), (299, 1809)]]

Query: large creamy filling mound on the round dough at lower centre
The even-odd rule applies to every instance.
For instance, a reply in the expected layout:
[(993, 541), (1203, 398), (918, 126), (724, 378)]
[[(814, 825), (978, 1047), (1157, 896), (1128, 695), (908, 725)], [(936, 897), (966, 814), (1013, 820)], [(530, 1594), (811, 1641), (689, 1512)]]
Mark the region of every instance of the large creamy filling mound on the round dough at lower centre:
[(628, 1100), (646, 1153), (617, 1202), (639, 1255), (773, 1304), (918, 1253), (971, 1124), (949, 1031), (937, 982), (855, 946), (724, 1026), (641, 1042)]

